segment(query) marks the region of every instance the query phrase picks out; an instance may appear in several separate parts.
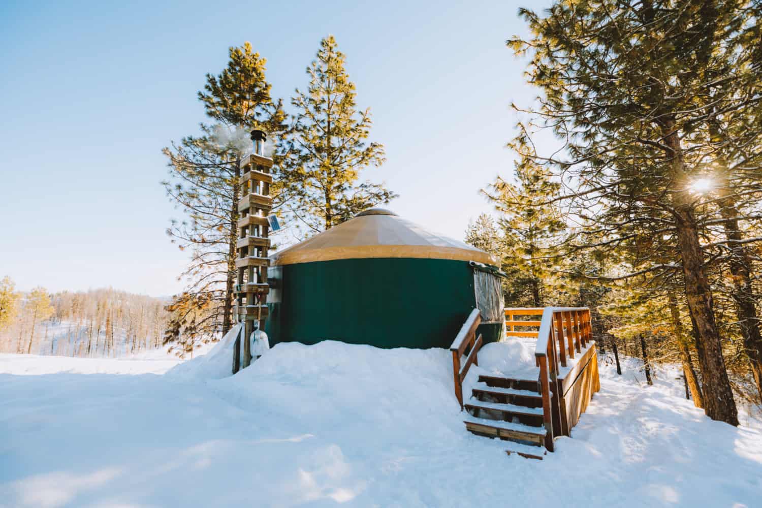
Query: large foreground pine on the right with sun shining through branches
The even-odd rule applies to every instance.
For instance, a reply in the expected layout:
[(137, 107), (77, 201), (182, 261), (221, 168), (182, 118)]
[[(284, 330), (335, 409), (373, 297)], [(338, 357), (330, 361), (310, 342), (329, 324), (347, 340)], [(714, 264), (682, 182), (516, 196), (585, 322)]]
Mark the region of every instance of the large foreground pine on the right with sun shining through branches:
[[(759, 83), (758, 52), (747, 48), (759, 31), (751, 3), (559, 1), (543, 17), (520, 11), (532, 36), (509, 41), (517, 53), (533, 53), (528, 74), (543, 91), (533, 125), (563, 143), (562, 156), (535, 161), (565, 179), (569, 190), (559, 199), (585, 223), (576, 247), (653, 245), (623, 277), (681, 277), (706, 414), (732, 425), (738, 414), (700, 241), (702, 200), (692, 187), (716, 147), (693, 133), (713, 118), (759, 109), (758, 97), (742, 93)], [(709, 94), (712, 101), (703, 100)], [(522, 128), (515, 143), (527, 156), (531, 137)], [(748, 145), (752, 160), (760, 146)], [(674, 252), (666, 264), (664, 236)]]

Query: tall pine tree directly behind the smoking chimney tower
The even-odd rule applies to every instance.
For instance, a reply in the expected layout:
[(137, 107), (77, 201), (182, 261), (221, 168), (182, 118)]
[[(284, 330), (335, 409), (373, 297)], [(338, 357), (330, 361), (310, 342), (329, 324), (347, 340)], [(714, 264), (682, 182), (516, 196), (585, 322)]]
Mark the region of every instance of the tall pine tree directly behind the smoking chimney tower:
[[(165, 148), (171, 180), (162, 182), (172, 201), (187, 216), (173, 221), (168, 235), (181, 249), (191, 248), (191, 263), (181, 278), (187, 290), (177, 308), (189, 301), (206, 306), (218, 302), (215, 312), (203, 319), (186, 321), (198, 337), (226, 334), (232, 325), (235, 284), (235, 245), (238, 241), (238, 202), (241, 197), (240, 161), (251, 150), (249, 131), (264, 129), (277, 139), (284, 129), (285, 113), (271, 97), (265, 78), (266, 60), (251, 43), (229, 48), (229, 62), (219, 75), (207, 74), (198, 97), (212, 126), (202, 125), (202, 136), (189, 136)], [(170, 306), (170, 310), (173, 308)]]

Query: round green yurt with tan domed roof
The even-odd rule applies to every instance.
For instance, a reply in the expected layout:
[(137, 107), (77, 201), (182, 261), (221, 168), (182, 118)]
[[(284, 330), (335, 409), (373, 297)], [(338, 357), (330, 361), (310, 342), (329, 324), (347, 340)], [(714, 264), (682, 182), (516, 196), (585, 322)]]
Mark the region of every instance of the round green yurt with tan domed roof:
[(273, 254), (270, 344), (321, 340), (376, 347), (450, 347), (474, 308), (483, 340), (504, 334), (495, 260), (386, 209)]

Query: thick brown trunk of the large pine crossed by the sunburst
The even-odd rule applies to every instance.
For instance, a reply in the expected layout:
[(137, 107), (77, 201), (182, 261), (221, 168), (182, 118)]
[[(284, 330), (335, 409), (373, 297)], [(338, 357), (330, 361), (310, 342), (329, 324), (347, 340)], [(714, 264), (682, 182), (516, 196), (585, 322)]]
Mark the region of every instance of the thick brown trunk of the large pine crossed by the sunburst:
[(712, 420), (738, 426), (738, 410), (733, 400), (728, 372), (725, 370), (725, 359), (722, 357), (712, 289), (703, 267), (703, 250), (699, 242), (696, 216), (693, 214), (683, 152), (674, 130), (674, 123), (671, 121), (664, 126), (664, 143), (672, 150), (671, 177), (675, 186), (673, 206), (677, 219), (677, 240), (683, 264), (688, 308), (698, 337), (696, 350), (703, 375), (704, 411)]

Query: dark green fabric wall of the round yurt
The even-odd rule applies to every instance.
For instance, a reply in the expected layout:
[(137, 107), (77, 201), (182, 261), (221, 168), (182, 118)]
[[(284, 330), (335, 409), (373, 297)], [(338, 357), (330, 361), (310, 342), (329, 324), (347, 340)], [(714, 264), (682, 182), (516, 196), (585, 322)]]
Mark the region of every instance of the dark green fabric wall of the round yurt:
[[(376, 347), (450, 347), (475, 308), (466, 261), (363, 258), (273, 270), (267, 335), (279, 342), (341, 340)], [(280, 300), (280, 301), (277, 301)], [(480, 327), (485, 342), (498, 327)]]

